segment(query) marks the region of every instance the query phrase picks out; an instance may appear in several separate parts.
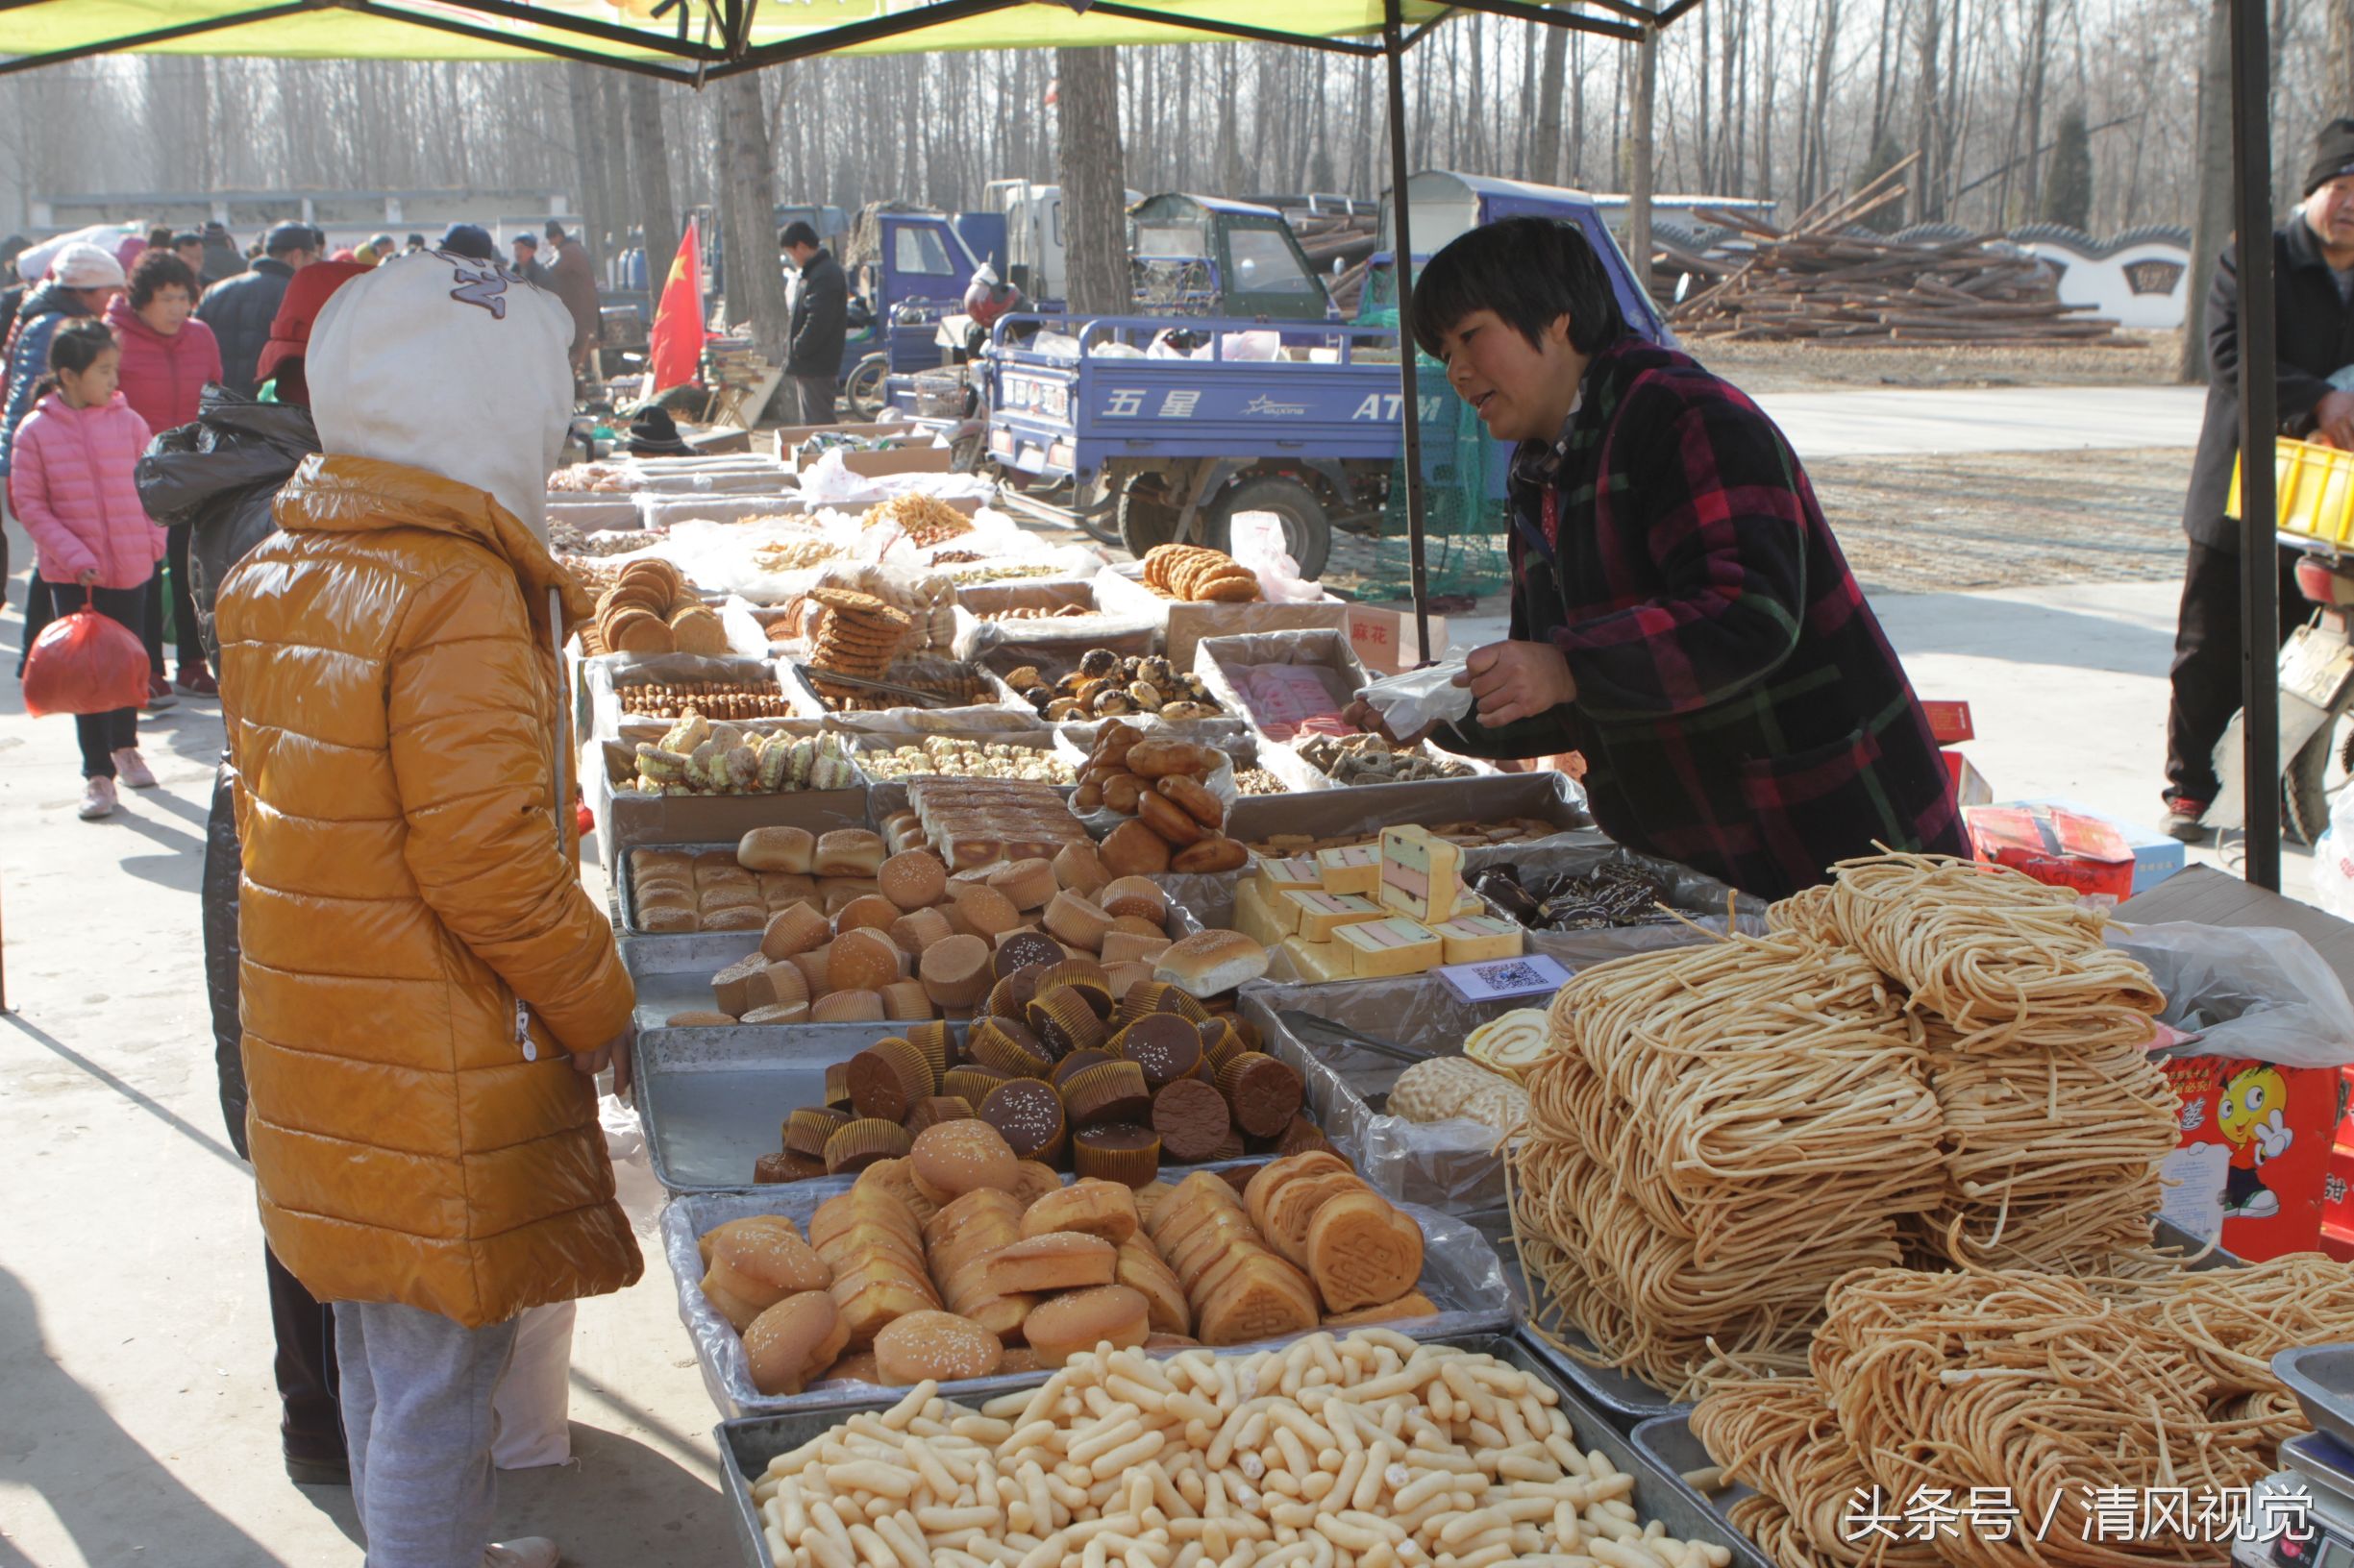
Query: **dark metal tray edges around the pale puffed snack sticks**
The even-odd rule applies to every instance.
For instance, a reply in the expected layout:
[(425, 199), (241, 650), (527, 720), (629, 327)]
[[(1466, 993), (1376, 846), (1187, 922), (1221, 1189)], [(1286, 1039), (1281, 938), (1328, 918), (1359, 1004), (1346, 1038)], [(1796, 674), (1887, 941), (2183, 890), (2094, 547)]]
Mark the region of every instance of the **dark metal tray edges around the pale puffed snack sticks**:
[[(1641, 1519), (1657, 1519), (1667, 1533), (1678, 1540), (1723, 1547), (1733, 1554), (1735, 1563), (1742, 1563), (1742, 1568), (1770, 1568), (1766, 1556), (1733, 1526), (1728, 1526), (1721, 1514), (1709, 1509), (1700, 1495), (1693, 1493), (1693, 1488), (1683, 1486), (1676, 1471), (1664, 1469), (1641, 1446), (1610, 1427), (1601, 1413), (1580, 1398), (1577, 1389), (1563, 1387), (1551, 1366), (1530, 1356), (1525, 1344), (1502, 1335), (1450, 1335), (1441, 1342), (1467, 1351), (1483, 1351), (1549, 1382), (1561, 1396), (1563, 1415), (1570, 1417), (1570, 1427), (1577, 1431), (1577, 1446), (1589, 1453), (1596, 1448), (1603, 1450), (1615, 1467), (1634, 1476), (1631, 1502)], [(1231, 1354), (1245, 1351), (1236, 1349)], [(1036, 1387), (1045, 1382), (1045, 1373), (1026, 1375), (1017, 1382), (1017, 1387)], [(751, 1488), (767, 1474), (767, 1462), (777, 1455), (793, 1453), (810, 1439), (833, 1429), (859, 1410), (890, 1410), (902, 1396), (902, 1391), (892, 1389), (833, 1410), (749, 1415), (720, 1422), (713, 1429), (713, 1439), (720, 1450), (720, 1486), (727, 1493), (730, 1516), (734, 1519), (737, 1537), (744, 1544), (746, 1568), (774, 1568), (774, 1559), (767, 1552), (765, 1521), (760, 1519), (758, 1504), (751, 1500)]]

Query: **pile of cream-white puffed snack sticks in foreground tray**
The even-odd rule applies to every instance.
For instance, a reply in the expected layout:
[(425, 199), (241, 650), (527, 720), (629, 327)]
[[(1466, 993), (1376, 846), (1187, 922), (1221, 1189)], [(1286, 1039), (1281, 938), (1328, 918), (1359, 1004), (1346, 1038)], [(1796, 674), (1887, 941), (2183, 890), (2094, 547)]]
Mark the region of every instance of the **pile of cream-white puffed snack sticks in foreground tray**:
[(1099, 1344), (977, 1413), (925, 1382), (753, 1483), (777, 1568), (1730, 1568), (1631, 1495), (1551, 1387), (1387, 1328)]

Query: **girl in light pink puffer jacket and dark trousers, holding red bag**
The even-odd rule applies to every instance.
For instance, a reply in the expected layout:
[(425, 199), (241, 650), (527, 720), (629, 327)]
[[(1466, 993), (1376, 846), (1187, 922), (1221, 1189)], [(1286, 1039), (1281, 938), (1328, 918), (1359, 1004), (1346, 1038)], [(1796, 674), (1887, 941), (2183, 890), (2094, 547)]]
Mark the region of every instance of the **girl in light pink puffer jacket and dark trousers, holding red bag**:
[[(104, 320), (78, 320), (49, 339), (49, 377), (9, 452), (7, 499), (33, 534), (56, 607), (73, 612), (87, 596), (137, 636), (165, 532), (148, 523), (132, 483), (148, 428), (115, 391), (120, 370), (122, 351)], [(137, 720), (139, 709), (75, 716), (82, 822), (115, 810), (115, 777), (132, 789), (155, 784), (139, 756)]]

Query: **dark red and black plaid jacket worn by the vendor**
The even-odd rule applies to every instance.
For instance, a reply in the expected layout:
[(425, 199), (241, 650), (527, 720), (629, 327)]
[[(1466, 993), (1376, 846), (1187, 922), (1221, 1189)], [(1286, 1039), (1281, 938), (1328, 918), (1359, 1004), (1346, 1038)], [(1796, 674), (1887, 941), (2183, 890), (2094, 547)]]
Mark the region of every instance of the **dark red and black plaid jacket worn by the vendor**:
[[(1547, 544), (1551, 504), (1558, 544)], [(1577, 699), (1467, 756), (1577, 749), (1620, 843), (1761, 897), (1897, 850), (1968, 855), (1928, 718), (1782, 431), (1690, 358), (1627, 339), (1511, 471), (1511, 636)]]

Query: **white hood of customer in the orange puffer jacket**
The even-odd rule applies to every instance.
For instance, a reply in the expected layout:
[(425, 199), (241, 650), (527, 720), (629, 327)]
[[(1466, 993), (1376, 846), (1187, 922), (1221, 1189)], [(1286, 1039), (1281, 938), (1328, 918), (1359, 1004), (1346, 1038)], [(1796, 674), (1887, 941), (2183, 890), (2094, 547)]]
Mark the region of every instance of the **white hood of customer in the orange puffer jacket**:
[(541, 542), (572, 419), (572, 313), (497, 261), (393, 257), (334, 292), (304, 379), (330, 454), (487, 490)]

